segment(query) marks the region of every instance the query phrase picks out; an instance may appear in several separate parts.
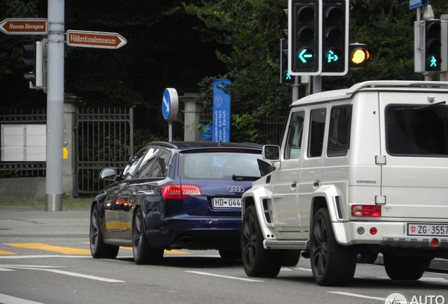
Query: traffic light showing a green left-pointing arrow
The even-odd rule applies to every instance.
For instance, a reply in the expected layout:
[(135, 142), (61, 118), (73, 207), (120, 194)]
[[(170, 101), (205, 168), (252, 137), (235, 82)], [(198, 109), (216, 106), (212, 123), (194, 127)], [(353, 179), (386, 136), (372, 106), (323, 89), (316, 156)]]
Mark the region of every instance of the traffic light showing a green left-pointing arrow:
[(319, 75), (322, 70), (322, 0), (289, 1), (289, 70), (291, 75)]

